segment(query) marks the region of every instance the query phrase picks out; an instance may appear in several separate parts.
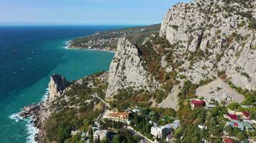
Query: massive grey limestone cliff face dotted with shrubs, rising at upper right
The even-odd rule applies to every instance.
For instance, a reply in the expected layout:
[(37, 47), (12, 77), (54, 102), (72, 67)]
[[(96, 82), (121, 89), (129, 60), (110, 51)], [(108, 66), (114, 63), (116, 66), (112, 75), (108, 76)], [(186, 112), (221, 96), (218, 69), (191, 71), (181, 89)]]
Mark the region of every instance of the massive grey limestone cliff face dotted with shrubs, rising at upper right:
[[(193, 83), (226, 71), (237, 87), (256, 89), (256, 1), (196, 0), (176, 4), (163, 19), (160, 36), (175, 46), (182, 74)], [(190, 56), (201, 57), (191, 61)]]

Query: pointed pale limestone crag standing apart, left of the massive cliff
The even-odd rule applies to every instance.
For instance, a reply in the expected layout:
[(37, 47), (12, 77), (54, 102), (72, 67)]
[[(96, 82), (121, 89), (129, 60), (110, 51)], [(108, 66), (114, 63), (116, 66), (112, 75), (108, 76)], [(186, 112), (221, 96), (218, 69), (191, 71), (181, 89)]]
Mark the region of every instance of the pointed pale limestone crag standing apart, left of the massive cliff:
[(142, 59), (137, 47), (126, 38), (118, 41), (116, 54), (109, 67), (109, 87), (106, 97), (116, 94), (119, 89), (148, 88), (149, 73), (142, 66)]

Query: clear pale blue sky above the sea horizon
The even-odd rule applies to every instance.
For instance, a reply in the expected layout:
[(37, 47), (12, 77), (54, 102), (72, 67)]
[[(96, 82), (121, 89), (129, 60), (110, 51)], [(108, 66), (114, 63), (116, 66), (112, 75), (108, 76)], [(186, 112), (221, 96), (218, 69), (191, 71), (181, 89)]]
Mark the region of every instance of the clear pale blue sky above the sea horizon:
[(0, 0), (0, 25), (145, 25), (188, 0)]

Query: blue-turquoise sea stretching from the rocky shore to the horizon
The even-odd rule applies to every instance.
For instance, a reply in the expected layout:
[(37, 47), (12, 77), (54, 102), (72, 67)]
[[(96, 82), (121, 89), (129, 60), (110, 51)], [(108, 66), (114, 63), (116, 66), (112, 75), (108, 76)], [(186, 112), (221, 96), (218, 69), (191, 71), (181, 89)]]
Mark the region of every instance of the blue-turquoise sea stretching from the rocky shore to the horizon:
[(46, 98), (50, 75), (68, 80), (109, 69), (114, 53), (67, 49), (68, 41), (127, 26), (0, 26), (0, 142), (35, 142), (22, 107)]

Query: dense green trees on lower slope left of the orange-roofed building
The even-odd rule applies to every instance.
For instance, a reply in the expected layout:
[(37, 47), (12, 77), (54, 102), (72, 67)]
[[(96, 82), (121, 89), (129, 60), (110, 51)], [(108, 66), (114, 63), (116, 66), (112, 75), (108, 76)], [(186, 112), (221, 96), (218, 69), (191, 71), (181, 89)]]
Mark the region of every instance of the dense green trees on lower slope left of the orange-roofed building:
[(46, 120), (44, 129), (47, 142), (65, 142), (70, 138), (72, 129), (86, 132), (88, 126), (99, 116), (101, 110), (93, 110), (94, 104), (88, 104), (80, 109), (63, 109), (55, 112)]

